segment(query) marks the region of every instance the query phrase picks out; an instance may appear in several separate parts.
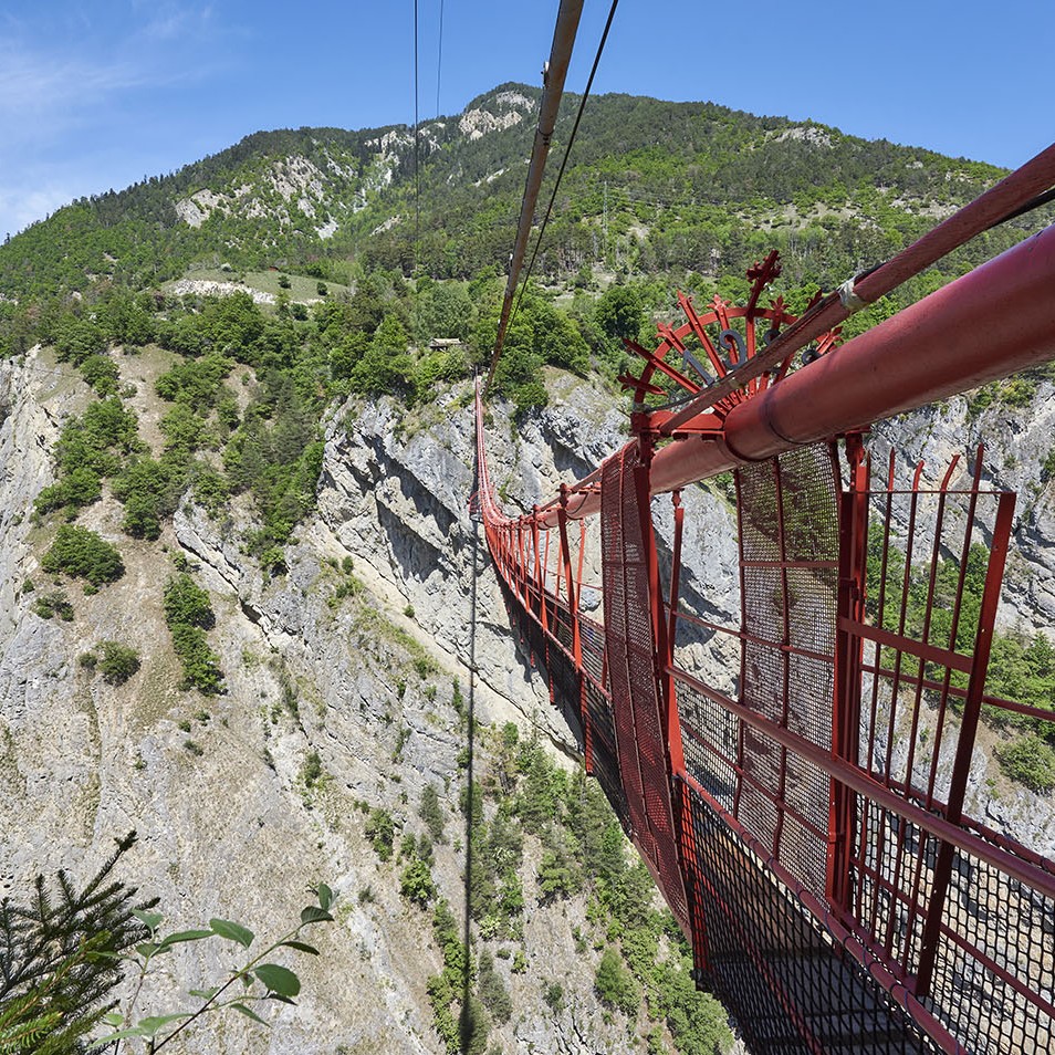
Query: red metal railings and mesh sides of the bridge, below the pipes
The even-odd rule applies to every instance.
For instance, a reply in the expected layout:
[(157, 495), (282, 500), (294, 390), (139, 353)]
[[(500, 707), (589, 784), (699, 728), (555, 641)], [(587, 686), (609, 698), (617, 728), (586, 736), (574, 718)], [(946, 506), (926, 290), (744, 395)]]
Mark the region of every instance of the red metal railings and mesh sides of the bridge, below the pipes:
[[(623, 452), (600, 479), (602, 625), (578, 608), (585, 530), (503, 516), (478, 412), (511, 615), (700, 970), (743, 1021), (791, 1023), (794, 1043), (784, 1030), (753, 1049), (1043, 1051), (1055, 867), (964, 814), (980, 708), (1000, 702), (979, 641), (1013, 497), (982, 490), (979, 468), (968, 488), (950, 473), (926, 490), (918, 471), (871, 490), (853, 438), (847, 484), (834, 446), (739, 470), (734, 628), (679, 598), (677, 497), (659, 581), (647, 478)], [(737, 643), (733, 694), (677, 658), (701, 633)], [(721, 863), (715, 824), (740, 847)]]

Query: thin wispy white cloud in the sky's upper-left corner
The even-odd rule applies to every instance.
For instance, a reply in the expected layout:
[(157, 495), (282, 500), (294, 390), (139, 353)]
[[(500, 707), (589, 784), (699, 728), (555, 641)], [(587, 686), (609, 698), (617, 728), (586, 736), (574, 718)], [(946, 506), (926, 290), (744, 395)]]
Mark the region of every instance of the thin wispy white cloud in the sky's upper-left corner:
[[(119, 11), (115, 10), (119, 7)], [(132, 160), (229, 65), (201, 2), (55, 0), (0, 11), (0, 238), (62, 205), (154, 171)]]

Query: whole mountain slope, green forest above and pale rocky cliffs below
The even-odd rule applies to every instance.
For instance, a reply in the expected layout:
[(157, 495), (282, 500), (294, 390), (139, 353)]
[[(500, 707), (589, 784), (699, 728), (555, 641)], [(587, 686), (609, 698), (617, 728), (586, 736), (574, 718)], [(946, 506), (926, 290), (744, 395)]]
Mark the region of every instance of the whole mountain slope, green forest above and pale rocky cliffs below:
[[(121, 867), (175, 927), (278, 933), (305, 887), (338, 895), (299, 1006), (271, 1033), (209, 1020), (182, 1051), (458, 1051), (466, 897), (471, 1051), (731, 1042), (488, 574), (468, 713), (468, 379), (537, 101), (503, 85), (417, 140), (257, 133), (0, 247), (0, 889), (86, 877), (135, 827)], [(801, 309), (1000, 175), (708, 103), (593, 101), (498, 376), (503, 501), (529, 509), (621, 443), (621, 338), (654, 344), (676, 289), (739, 296), (777, 248), (773, 293)], [(1041, 222), (994, 229), (847, 332)], [(1053, 407), (1041, 370), (879, 429), (936, 472), (985, 432), (991, 478), (1022, 490), (1000, 647), (1038, 706), (1055, 699)], [(718, 610), (732, 512), (721, 481), (686, 501)], [(1017, 770), (981, 760), (972, 806), (1055, 846), (1036, 794), (1051, 743), (988, 735), (1026, 746)], [(182, 1006), (230, 957), (187, 943), (174, 961), (137, 1014)]]

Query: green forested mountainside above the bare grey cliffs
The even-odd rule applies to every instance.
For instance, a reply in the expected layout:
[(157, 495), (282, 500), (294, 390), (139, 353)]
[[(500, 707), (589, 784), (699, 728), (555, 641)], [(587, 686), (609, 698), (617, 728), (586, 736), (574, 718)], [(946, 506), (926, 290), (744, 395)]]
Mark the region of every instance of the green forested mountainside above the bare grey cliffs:
[[(178, 173), (75, 201), (0, 247), (0, 349), (54, 342), (76, 361), (107, 341), (156, 338), (192, 355), (216, 337), (188, 343), (196, 323), (164, 302), (170, 280), (280, 269), (316, 280), (320, 291), (327, 283), (354, 291), (332, 309), (340, 317), (320, 326), (323, 341), (304, 345), (316, 355), (315, 374), (328, 374), (324, 387), (388, 390), (396, 382), (421, 398), (430, 382), (472, 364), (434, 357), (411, 368), (400, 358), (405, 344), (471, 338), (477, 356), (487, 345), (537, 97), (502, 85), (461, 117), (424, 124), (417, 137), (405, 126), (257, 133)], [(554, 156), (577, 103), (565, 98)], [(485, 134), (464, 124), (480, 114), (493, 124)], [(711, 103), (595, 98), (534, 264), (540, 284), (511, 334), (520, 361), (508, 364), (503, 384), (526, 407), (542, 398), (543, 363), (582, 369), (593, 353), (613, 373), (620, 353), (613, 337), (649, 343), (676, 289), (700, 302), (715, 292), (742, 299), (745, 270), (771, 249), (783, 267), (772, 293), (801, 311), (817, 290), (888, 259), (1001, 175)], [(854, 316), (845, 334), (1010, 247), (1036, 222), (1020, 218), (973, 240)], [(281, 336), (269, 327), (272, 364), (284, 356), (289, 365), (296, 324), (306, 321), (305, 297), (289, 289), (286, 278), (278, 314), (288, 325)], [(153, 304), (143, 291), (153, 291)], [(149, 316), (159, 310), (155, 333)], [(333, 354), (326, 342), (338, 327), (343, 346)]]

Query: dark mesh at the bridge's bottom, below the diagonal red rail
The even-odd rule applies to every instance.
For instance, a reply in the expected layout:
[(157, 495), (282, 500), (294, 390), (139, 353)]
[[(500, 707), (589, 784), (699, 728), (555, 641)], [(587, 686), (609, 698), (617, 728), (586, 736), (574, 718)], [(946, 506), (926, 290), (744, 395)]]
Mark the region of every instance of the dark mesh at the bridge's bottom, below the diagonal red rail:
[(706, 933), (698, 962), (753, 1055), (938, 1052), (719, 814), (683, 783), (676, 786), (691, 828), (690, 912)]

